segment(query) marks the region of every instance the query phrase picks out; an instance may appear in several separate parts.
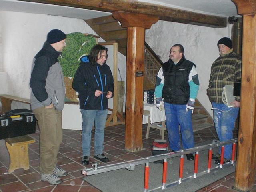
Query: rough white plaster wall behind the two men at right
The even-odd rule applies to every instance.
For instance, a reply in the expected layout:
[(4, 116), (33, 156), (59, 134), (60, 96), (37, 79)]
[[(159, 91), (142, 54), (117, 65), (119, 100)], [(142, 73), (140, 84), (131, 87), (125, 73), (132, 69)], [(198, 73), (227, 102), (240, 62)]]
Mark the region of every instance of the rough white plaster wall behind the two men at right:
[(198, 100), (212, 115), (212, 106), (206, 95), (210, 79), (212, 63), (219, 56), (217, 42), (220, 38), (231, 36), (231, 26), (226, 28), (210, 28), (189, 24), (158, 21), (146, 30), (146, 42), (160, 56), (163, 62), (169, 59), (172, 45), (184, 46), (185, 58), (197, 66), (200, 88)]

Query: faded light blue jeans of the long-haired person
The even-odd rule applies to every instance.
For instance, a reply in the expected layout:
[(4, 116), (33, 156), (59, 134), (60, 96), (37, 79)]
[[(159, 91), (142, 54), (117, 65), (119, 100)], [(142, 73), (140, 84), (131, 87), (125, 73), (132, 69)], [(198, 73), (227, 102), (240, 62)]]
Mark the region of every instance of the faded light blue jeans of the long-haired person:
[[(104, 128), (108, 110), (84, 110), (81, 109), (82, 124), (82, 151), (83, 156), (90, 156), (92, 126), (95, 126), (94, 133), (94, 154), (103, 153)], [(95, 123), (94, 123), (95, 121)]]

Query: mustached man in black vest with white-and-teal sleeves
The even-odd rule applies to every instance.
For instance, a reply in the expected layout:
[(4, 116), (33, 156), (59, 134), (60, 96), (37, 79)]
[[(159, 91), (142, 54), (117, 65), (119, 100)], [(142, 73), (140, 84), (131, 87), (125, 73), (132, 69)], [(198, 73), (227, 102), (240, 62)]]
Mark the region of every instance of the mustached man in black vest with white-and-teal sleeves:
[[(170, 50), (170, 59), (163, 64), (156, 77), (156, 107), (165, 109), (166, 128), (170, 149), (181, 150), (194, 147), (192, 112), (199, 89), (196, 65), (185, 59), (184, 48), (175, 44)], [(164, 101), (164, 102), (163, 102)], [(179, 130), (180, 126), (180, 130)], [(193, 154), (187, 154), (194, 160)]]

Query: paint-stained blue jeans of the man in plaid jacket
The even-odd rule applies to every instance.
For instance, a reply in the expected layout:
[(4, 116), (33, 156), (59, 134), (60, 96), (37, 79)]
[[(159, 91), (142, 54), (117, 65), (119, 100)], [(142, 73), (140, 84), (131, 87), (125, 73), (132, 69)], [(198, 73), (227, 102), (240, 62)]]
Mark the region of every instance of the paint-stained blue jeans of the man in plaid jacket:
[[(235, 126), (235, 121), (239, 111), (239, 107), (229, 108), (222, 103), (212, 103), (214, 124), (215, 129), (220, 141), (227, 141), (233, 139), (233, 130)], [(219, 153), (221, 153), (221, 147), (219, 148)], [(224, 158), (231, 159), (232, 146), (231, 144), (225, 145)]]

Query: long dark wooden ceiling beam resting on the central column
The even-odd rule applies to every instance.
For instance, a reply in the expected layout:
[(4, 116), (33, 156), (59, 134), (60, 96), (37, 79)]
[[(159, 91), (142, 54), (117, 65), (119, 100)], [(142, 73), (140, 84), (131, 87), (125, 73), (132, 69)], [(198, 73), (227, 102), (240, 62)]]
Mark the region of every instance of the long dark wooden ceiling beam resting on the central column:
[(157, 16), (160, 20), (179, 22), (185, 24), (194, 24), (199, 26), (208, 26), (222, 28), (227, 26), (227, 18), (212, 16), (202, 13), (190, 12), (176, 8), (170, 8), (157, 4), (146, 2), (137, 2), (134, 0), (21, 0), (27, 2), (37, 2), (44, 4), (54, 4), (60, 6), (69, 6), (104, 12), (124, 11), (130, 13), (147, 14)]

